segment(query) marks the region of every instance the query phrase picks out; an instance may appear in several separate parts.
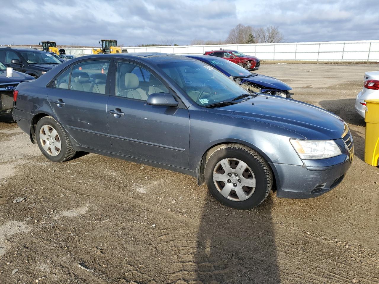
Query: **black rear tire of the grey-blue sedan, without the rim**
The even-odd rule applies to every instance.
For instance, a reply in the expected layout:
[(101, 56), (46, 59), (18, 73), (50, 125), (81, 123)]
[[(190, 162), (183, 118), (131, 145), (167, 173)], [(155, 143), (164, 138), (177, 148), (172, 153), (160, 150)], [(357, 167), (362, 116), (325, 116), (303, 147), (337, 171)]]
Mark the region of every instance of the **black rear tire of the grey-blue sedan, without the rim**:
[[(42, 146), (40, 133), (41, 133), (41, 128), (44, 125), (51, 126), (52, 128), (54, 128), (56, 130), (56, 132), (59, 135), (60, 143), (61, 143), (61, 149), (60, 149), (60, 152), (56, 156), (52, 156), (49, 153), (47, 153), (47, 151), (45, 151), (43, 146)], [(42, 135), (43, 135), (43, 133), (42, 133)], [(76, 151), (72, 147), (70, 139), (67, 136), (66, 132), (64, 131), (63, 127), (60, 125), (59, 122), (57, 122), (51, 116), (42, 117), (38, 121), (37, 126), (36, 126), (36, 140), (37, 140), (39, 150), (41, 150), (42, 154), (44, 154), (44, 156), (47, 159), (49, 159), (50, 161), (53, 161), (53, 162), (68, 161), (68, 160), (72, 159), (72, 157), (74, 157), (74, 155), (76, 153)]]

